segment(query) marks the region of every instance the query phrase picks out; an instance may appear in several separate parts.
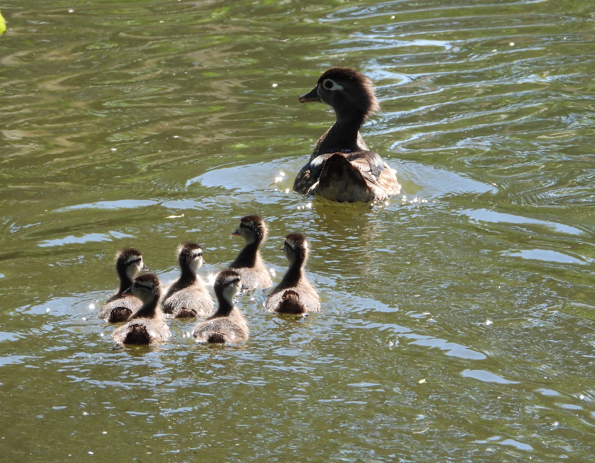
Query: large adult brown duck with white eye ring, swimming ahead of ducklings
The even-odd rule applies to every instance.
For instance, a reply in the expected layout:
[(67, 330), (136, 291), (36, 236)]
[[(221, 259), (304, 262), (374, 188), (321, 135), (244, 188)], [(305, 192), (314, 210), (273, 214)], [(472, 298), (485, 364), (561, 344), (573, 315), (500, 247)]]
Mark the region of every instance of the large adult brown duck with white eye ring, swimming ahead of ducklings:
[(364, 120), (380, 109), (368, 77), (349, 68), (331, 68), (299, 101), (327, 103), (335, 111), (336, 122), (318, 140), (293, 190), (350, 203), (384, 200), (399, 193), (395, 171), (368, 149), (359, 134)]

